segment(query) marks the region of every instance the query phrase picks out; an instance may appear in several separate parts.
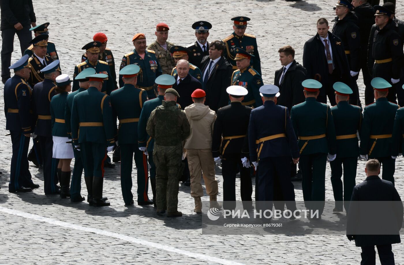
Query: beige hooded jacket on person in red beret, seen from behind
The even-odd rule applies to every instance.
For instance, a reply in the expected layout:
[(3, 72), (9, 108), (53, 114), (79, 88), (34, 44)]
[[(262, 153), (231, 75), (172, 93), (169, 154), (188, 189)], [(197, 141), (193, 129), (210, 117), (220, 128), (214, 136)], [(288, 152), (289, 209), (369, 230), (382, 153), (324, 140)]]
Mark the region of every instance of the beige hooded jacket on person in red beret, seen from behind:
[(191, 134), (185, 140), (184, 149), (212, 149), (215, 111), (202, 103), (194, 103), (185, 108)]

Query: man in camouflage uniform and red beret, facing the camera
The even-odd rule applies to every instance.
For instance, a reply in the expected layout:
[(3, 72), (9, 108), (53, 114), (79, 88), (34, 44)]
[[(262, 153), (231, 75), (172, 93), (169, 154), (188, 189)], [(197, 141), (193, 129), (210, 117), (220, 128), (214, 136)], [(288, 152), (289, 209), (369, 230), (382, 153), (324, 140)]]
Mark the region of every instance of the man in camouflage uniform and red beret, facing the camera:
[(170, 74), (171, 70), (175, 67), (174, 58), (170, 53), (170, 49), (174, 44), (167, 41), (169, 30), (170, 28), (166, 23), (158, 23), (155, 32), (157, 39), (147, 46), (148, 50), (152, 50), (156, 54), (163, 74)]

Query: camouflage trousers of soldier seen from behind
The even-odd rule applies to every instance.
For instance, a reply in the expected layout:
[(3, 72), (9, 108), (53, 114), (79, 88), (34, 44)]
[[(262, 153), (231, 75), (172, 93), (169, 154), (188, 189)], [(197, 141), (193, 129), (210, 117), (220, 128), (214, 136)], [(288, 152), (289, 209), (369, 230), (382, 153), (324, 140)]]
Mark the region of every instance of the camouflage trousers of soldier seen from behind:
[(176, 212), (178, 207), (178, 182), (183, 165), (181, 145), (154, 144), (153, 160), (156, 164), (156, 205), (159, 210)]

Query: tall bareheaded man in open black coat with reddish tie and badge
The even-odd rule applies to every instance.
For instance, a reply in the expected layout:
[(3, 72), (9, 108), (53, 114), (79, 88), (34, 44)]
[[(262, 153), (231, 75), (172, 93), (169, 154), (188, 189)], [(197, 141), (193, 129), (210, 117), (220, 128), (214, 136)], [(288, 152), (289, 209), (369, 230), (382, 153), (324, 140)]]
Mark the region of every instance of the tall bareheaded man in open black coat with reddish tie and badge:
[[(322, 84), (317, 101), (336, 105), (332, 85), (335, 82), (350, 83), (349, 64), (341, 39), (328, 31), (328, 21), (317, 21), (317, 34), (304, 44), (303, 66), (307, 69), (307, 78), (318, 80)], [(320, 56), (318, 56), (320, 55)]]

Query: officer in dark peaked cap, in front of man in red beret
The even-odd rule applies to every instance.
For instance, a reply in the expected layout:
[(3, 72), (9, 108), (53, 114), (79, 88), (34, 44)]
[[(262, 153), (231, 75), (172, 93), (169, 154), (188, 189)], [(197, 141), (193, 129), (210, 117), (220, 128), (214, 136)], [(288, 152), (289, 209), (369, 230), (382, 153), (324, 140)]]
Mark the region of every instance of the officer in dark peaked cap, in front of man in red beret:
[(110, 95), (112, 90), (115, 89), (114, 80), (112, 79), (111, 72), (109, 72), (109, 65), (105, 61), (100, 61), (98, 59), (98, 54), (100, 52), (101, 42), (93, 41), (89, 42), (81, 48), (82, 50), (86, 50), (87, 60), (76, 65), (74, 67), (74, 75), (73, 75), (73, 91), (76, 91), (80, 88), (78, 84), (78, 80), (76, 80), (76, 76), (80, 74), (86, 68), (94, 68), (97, 74), (106, 74), (107, 78), (103, 81), (103, 86), (101, 92), (107, 95)]

